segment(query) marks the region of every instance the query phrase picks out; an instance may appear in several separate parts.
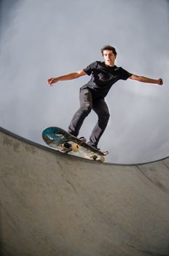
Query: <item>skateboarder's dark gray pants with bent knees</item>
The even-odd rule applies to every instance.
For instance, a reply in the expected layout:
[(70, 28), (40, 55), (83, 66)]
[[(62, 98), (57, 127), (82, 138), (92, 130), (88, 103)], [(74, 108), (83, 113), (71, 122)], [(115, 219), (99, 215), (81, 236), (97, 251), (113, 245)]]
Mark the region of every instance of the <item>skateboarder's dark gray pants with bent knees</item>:
[(80, 108), (74, 114), (71, 124), (68, 127), (68, 132), (71, 135), (78, 136), (79, 129), (82, 127), (84, 118), (88, 116), (90, 111), (93, 109), (98, 115), (98, 122), (95, 124), (92, 135), (90, 136), (89, 144), (91, 146), (98, 146), (98, 141), (103, 135), (104, 130), (109, 121), (109, 109), (104, 99), (97, 99), (92, 94), (90, 89), (82, 89), (79, 95)]

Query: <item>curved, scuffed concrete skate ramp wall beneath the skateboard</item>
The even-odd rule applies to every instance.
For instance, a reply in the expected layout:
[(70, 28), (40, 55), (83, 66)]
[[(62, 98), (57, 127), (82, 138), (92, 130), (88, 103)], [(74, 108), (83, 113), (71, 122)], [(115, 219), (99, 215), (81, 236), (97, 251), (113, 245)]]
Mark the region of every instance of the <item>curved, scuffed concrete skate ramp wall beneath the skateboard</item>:
[(169, 255), (168, 167), (90, 162), (1, 129), (1, 255)]

